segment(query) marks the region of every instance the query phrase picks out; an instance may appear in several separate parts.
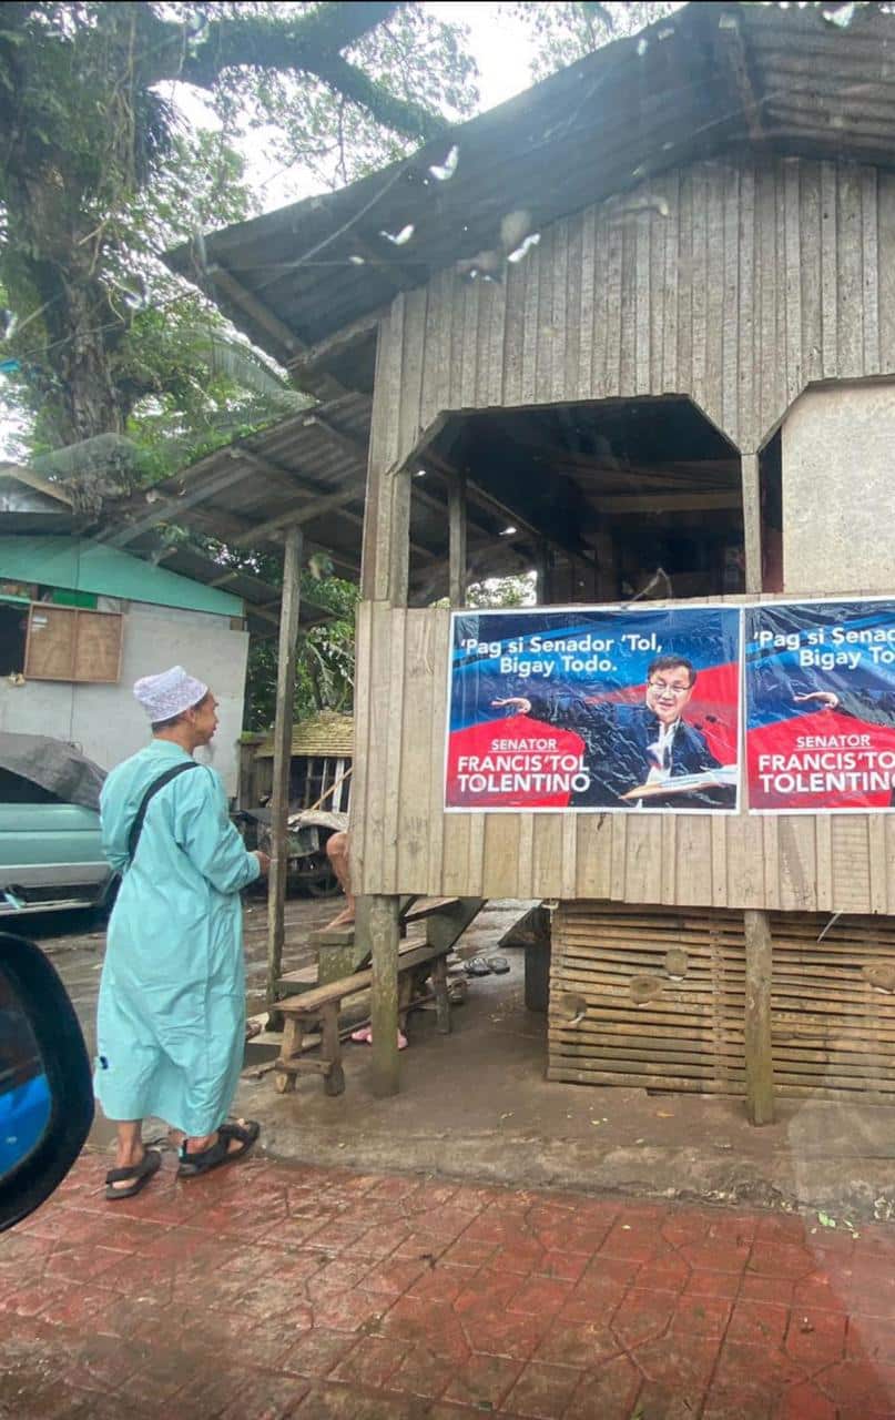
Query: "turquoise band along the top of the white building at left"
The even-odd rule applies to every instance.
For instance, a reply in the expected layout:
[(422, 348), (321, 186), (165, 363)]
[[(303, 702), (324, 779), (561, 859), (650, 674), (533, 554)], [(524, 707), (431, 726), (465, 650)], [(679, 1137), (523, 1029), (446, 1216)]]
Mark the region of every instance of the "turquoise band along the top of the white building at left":
[(243, 615), (242, 599), (230, 592), (81, 538), (0, 537), (0, 577), (215, 616)]

